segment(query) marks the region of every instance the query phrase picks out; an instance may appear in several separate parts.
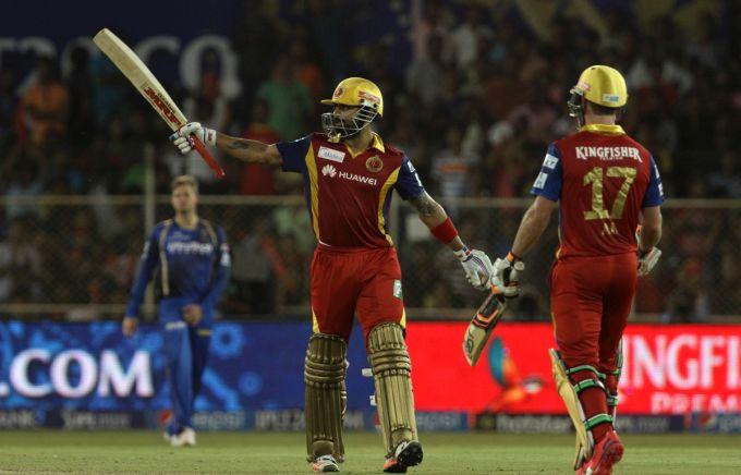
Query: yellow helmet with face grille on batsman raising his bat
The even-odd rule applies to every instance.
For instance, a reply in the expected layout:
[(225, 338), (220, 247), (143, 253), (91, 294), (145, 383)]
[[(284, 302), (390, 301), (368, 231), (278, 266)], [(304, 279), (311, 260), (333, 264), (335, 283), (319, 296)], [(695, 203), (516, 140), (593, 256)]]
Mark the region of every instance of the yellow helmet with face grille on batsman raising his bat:
[(352, 137), (373, 122), (376, 117), (384, 115), (384, 96), (373, 82), (362, 77), (342, 80), (335, 88), (331, 99), (324, 99), (326, 106), (359, 107), (350, 121), (344, 121), (332, 112), (321, 114), (321, 127), (329, 136), (340, 138)]

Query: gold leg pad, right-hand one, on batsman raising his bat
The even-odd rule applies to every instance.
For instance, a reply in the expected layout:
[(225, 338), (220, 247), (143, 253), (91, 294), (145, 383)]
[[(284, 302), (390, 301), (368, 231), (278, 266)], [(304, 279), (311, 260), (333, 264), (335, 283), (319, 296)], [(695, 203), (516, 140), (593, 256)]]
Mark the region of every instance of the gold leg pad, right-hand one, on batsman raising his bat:
[(368, 334), (368, 361), (387, 456), (403, 440), (417, 440), (412, 364), (399, 324), (381, 324)]

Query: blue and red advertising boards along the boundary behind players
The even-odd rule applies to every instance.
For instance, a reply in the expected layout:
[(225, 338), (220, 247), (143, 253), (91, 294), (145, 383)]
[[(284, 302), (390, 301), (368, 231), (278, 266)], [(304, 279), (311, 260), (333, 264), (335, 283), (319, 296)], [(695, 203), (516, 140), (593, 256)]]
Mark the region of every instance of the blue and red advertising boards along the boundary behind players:
[[(511, 416), (566, 414), (550, 374), (549, 325), (502, 322), (475, 367), (461, 351), (465, 326), (411, 322), (408, 328), (423, 426), (461, 430), (470, 424), (494, 427), (496, 419), (511, 428), (518, 422)], [(204, 389), (196, 400), (198, 425), (301, 429), (303, 361), (311, 331), (307, 322), (216, 324)], [(125, 339), (112, 321), (2, 322), (0, 426), (157, 425), (170, 406), (161, 345), (156, 325), (143, 325), (136, 337)], [(629, 325), (623, 352), (620, 414), (682, 416), (685, 428), (737, 431), (741, 326)], [(374, 385), (361, 373), (368, 364), (360, 329), (353, 332), (348, 360), (348, 424), (372, 428), (368, 399)], [(488, 416), (478, 417), (482, 414)], [(641, 421), (634, 425), (651, 427), (651, 421)]]

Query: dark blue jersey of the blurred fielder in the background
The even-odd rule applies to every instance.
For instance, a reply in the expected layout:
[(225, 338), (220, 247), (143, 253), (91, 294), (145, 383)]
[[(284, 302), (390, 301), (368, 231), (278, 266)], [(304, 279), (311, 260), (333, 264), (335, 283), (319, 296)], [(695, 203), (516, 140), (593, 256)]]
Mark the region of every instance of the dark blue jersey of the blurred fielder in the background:
[(204, 219), (195, 229), (181, 228), (174, 220), (162, 221), (144, 243), (126, 315), (137, 315), (155, 273), (158, 301), (178, 297), (209, 312), (227, 288), (230, 267), (229, 244), (220, 227)]

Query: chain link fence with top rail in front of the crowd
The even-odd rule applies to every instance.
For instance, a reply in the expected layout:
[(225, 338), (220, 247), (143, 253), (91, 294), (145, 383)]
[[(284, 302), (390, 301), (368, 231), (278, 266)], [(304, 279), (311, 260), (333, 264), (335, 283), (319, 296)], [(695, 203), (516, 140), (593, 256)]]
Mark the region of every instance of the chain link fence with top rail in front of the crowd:
[[(415, 211), (399, 199), (393, 203), (391, 230), (408, 315), (469, 318), (483, 294), (470, 289), (458, 261), (430, 238)], [(493, 258), (507, 253), (530, 203), (442, 200), (466, 244)], [(3, 197), (0, 209), (2, 318), (120, 318), (145, 222), (171, 217), (169, 196)], [(315, 241), (301, 195), (204, 195), (199, 214), (224, 228), (232, 247), (232, 279), (220, 305), (224, 318), (306, 318)], [(557, 224), (554, 217), (538, 247), (526, 256), (523, 295), (511, 305), (512, 318), (549, 318), (546, 280), (558, 244)], [(635, 318), (739, 320), (741, 202), (668, 202), (659, 246), (661, 261), (641, 279)], [(151, 318), (151, 299), (148, 303), (145, 316)]]

